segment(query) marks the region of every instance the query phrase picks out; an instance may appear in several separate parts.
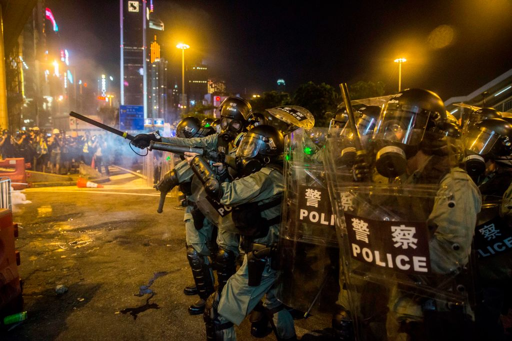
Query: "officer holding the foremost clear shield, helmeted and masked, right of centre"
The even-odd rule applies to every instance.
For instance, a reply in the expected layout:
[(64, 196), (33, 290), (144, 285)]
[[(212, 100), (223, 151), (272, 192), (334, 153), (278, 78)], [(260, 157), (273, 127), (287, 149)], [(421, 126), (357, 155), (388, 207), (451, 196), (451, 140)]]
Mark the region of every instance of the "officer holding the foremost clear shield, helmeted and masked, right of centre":
[[(344, 231), (349, 236), (356, 231), (362, 234), (347, 244), (352, 256), (346, 255), (344, 260), (348, 264), (349, 295), (357, 302), (350, 308), (358, 320), (358, 333), (366, 337), (400, 337), (406, 333), (433, 339), (441, 337), (440, 330), (445, 338), (474, 336), (468, 328), (473, 321), (468, 307), (472, 286), (466, 278), (471, 277), (467, 276), (471, 271), (468, 262), (481, 200), (478, 188), (452, 157), (454, 145), (443, 131), (445, 121), (442, 100), (428, 90), (408, 89), (391, 97), (382, 109), (369, 148), (366, 153), (358, 152), (356, 158), (354, 177), (367, 185), (344, 184), (339, 189), (339, 193), (350, 193), (354, 198), (353, 211), (344, 212)], [(380, 184), (377, 176), (384, 179)], [(377, 221), (380, 231), (394, 232), (372, 240), (366, 235), (370, 230), (366, 230), (365, 221)], [(386, 221), (391, 221), (391, 226)], [(425, 225), (414, 225), (414, 221)], [(412, 257), (428, 259), (425, 268), (401, 267), (377, 259), (377, 254), (388, 247), (378, 244), (380, 241), (389, 242), (386, 255), (391, 261), (394, 252), (402, 252), (397, 247), (409, 247), (399, 242), (405, 238), (403, 229), (423, 231), (423, 237), (413, 241), (424, 245), (424, 255)], [(355, 257), (360, 254), (359, 245), (367, 245), (360, 240), (374, 245), (365, 252), (382, 247), (373, 253), (373, 263), (369, 254)], [(414, 246), (411, 249), (419, 251), (420, 247)], [(404, 259), (402, 254), (398, 257)], [(416, 274), (408, 274), (408, 270)], [(361, 273), (371, 281), (355, 276)], [(365, 295), (368, 288), (379, 292), (378, 297)]]

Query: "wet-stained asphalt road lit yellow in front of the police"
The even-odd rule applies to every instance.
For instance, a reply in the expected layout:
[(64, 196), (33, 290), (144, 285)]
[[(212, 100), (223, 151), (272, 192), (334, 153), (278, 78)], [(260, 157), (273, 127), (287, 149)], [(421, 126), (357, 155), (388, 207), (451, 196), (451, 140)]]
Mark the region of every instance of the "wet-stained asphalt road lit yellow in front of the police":
[[(129, 174), (103, 189), (54, 187), (24, 192), (17, 204), (16, 248), (28, 320), (0, 335), (4, 340), (204, 340), (201, 315), (187, 307), (197, 297), (185, 256), (183, 210)], [(140, 295), (140, 287), (153, 294)], [(56, 287), (68, 290), (56, 293)], [(326, 339), (330, 316), (296, 321), (303, 339)], [(239, 340), (251, 337), (247, 319)], [(324, 334), (325, 335), (325, 334)], [(275, 339), (273, 335), (265, 339)]]

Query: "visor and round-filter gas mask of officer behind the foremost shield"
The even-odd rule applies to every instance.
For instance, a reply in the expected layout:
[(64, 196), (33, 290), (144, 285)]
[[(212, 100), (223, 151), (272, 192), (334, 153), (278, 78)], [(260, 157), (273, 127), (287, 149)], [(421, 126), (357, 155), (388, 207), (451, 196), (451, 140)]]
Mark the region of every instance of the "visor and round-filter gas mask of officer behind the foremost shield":
[(418, 151), (429, 116), (417, 106), (384, 108), (373, 135), (379, 174), (394, 178), (406, 172), (407, 159)]

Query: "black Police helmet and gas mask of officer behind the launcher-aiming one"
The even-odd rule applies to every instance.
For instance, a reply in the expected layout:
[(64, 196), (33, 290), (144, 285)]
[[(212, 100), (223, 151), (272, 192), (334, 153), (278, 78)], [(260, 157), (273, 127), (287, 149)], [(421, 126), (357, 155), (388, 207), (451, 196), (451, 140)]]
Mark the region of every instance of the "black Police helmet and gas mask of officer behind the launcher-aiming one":
[(241, 97), (228, 97), (218, 109), (221, 111), (221, 138), (231, 142), (247, 127), (252, 114), (251, 105)]

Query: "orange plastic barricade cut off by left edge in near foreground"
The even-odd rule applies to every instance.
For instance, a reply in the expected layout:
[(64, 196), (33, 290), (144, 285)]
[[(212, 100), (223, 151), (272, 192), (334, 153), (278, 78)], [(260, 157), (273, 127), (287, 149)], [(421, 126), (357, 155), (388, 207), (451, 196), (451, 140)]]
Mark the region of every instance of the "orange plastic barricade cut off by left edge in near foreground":
[[(22, 159), (23, 160), (23, 159)], [(0, 317), (19, 312), (23, 308), (19, 284), (19, 254), (14, 247), (17, 224), (12, 223), (12, 212), (0, 209)]]

